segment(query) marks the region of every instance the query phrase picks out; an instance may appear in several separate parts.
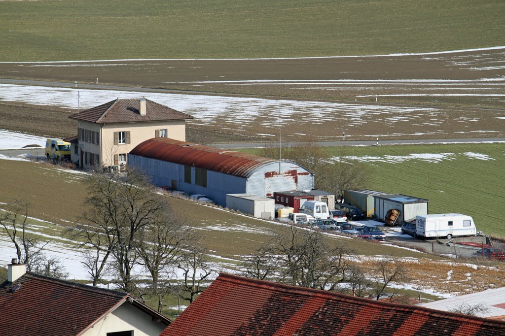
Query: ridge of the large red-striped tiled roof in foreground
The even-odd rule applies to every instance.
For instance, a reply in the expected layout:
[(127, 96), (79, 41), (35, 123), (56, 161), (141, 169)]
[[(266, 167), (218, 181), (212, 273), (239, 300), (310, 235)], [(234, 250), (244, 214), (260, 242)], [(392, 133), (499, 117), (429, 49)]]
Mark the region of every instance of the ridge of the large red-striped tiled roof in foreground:
[(428, 307), (423, 307), (423, 306), (411, 306), (411, 305), (405, 305), (405, 304), (399, 304), (399, 303), (393, 303), (393, 302), (383, 302), (383, 301), (377, 301), (377, 300), (371, 300), (371, 299), (366, 299), (366, 298), (360, 298), (356, 296), (350, 296), (346, 294), (341, 294), (341, 293), (335, 293), (335, 292), (328, 292), (324, 290), (318, 290), (318, 289), (312, 289), (312, 288), (307, 288), (307, 287), (299, 287), (299, 286), (291, 286), (291, 285), (286, 285), (286, 284), (280, 284), (280, 283), (274, 283), (274, 282), (269, 282), (269, 281), (264, 281), (264, 280), (259, 280), (259, 279), (251, 279), (251, 278), (246, 278), (243, 276), (239, 275), (234, 275), (230, 273), (224, 273), (221, 272), (219, 273), (219, 277), (216, 279), (221, 279), (221, 281), (228, 281), (228, 282), (233, 282), (237, 284), (241, 284), (244, 286), (254, 286), (255, 288), (258, 287), (270, 287), (272, 289), (283, 289), (285, 291), (290, 291), (293, 294), (299, 294), (299, 295), (306, 295), (306, 296), (311, 296), (311, 297), (326, 297), (326, 298), (335, 298), (335, 299), (344, 299), (344, 300), (350, 300), (358, 303), (366, 303), (368, 305), (374, 305), (374, 306), (389, 306), (391, 309), (394, 310), (408, 310), (411, 311), (412, 313), (420, 313), (420, 314), (426, 314), (426, 315), (439, 315), (440, 317), (443, 316), (448, 316), (452, 318), (456, 318), (458, 320), (465, 320), (468, 323), (475, 323), (475, 324), (482, 324), (482, 323), (487, 323), (487, 324), (498, 324), (505, 326), (505, 321), (497, 321), (494, 319), (488, 319), (484, 317), (478, 317), (478, 316), (469, 316), (465, 314), (460, 314), (460, 313), (453, 313), (453, 312), (447, 312), (447, 311), (441, 311), (441, 310), (436, 310)]

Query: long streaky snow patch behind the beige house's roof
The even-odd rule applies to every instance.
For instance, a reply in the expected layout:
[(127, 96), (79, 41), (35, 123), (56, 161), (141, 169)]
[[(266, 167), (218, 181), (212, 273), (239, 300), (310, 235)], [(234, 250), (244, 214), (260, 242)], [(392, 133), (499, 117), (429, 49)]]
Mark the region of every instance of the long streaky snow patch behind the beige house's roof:
[[(0, 84), (0, 99), (22, 101), (29, 104), (55, 105), (77, 108), (77, 94), (80, 94), (80, 107), (90, 108), (111, 101), (111, 97), (138, 98), (145, 92), (91, 90), (57, 88), (44, 86)], [(221, 124), (225, 120), (236, 125), (235, 130), (253, 128), (261, 125), (272, 128), (277, 125), (279, 116), (284, 121), (312, 125), (322, 121), (345, 119), (348, 126), (361, 126), (367, 119), (376, 121), (379, 115), (384, 118), (400, 115), (403, 118), (390, 119), (392, 123), (421, 118), (426, 114), (437, 113), (439, 109), (427, 107), (383, 106), (368, 104), (346, 104), (324, 101), (272, 100), (264, 98), (223, 97), (209, 95), (188, 95), (170, 93), (149, 93), (148, 99), (183, 111), (195, 118), (201, 125)], [(296, 118), (300, 113), (306, 118)], [(260, 119), (257, 119), (260, 118)], [(288, 126), (289, 123), (283, 126)]]

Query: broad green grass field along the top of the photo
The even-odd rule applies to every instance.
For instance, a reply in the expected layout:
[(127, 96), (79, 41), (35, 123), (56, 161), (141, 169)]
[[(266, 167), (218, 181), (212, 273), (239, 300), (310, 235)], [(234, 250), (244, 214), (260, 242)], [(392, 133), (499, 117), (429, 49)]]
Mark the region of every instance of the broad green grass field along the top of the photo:
[(503, 45), (501, 0), (0, 2), (1, 61), (257, 58)]

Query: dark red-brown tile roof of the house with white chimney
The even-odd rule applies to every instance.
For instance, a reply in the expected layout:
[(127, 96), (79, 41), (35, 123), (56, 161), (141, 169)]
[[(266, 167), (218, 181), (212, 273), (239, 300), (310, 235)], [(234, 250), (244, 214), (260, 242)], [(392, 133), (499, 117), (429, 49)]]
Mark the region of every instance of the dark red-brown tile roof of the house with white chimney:
[[(15, 286), (20, 287), (11, 291)], [(127, 298), (127, 293), (27, 272), (14, 283), (0, 284), (0, 335), (77, 335)]]

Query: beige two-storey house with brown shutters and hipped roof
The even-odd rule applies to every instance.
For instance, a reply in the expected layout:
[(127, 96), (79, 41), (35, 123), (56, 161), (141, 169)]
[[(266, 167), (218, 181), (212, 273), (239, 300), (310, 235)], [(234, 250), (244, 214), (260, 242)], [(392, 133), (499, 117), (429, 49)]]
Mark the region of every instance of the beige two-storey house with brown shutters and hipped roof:
[(193, 119), (145, 98), (118, 98), (69, 118), (78, 127), (71, 159), (82, 168), (125, 165), (130, 150), (153, 137), (185, 141), (185, 122)]

